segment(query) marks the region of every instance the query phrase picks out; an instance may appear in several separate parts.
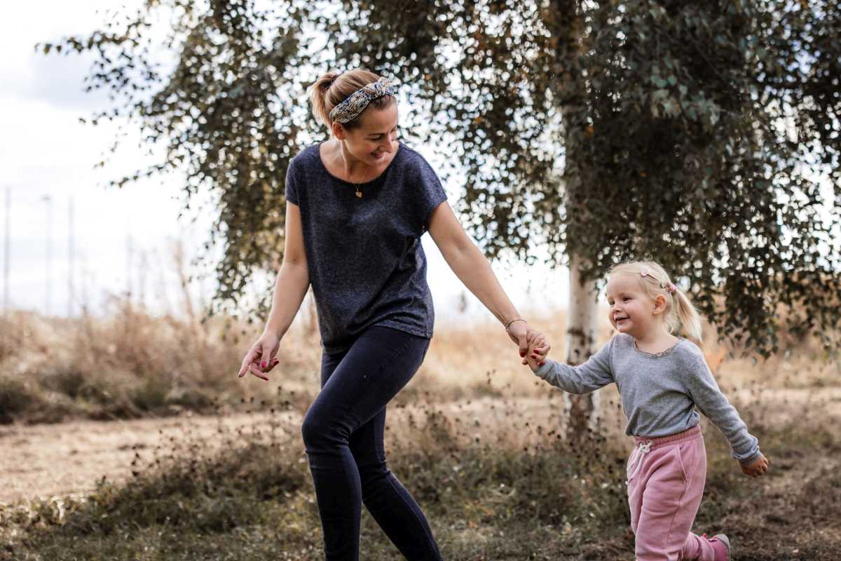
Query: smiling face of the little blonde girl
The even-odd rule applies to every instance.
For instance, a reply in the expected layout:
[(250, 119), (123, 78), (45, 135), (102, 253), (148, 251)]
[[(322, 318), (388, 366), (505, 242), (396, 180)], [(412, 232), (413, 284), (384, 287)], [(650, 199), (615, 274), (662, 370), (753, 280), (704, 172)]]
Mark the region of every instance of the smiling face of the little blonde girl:
[(607, 282), (611, 325), (635, 339), (643, 338), (659, 326), (665, 304), (659, 299), (659, 296), (652, 299), (633, 275), (618, 274)]

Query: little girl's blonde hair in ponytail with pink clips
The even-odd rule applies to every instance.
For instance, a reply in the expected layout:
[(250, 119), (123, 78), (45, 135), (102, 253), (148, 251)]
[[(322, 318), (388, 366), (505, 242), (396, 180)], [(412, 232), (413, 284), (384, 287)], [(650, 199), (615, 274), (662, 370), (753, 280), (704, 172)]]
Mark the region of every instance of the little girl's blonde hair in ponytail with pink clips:
[[(701, 316), (692, 305), (689, 298), (680, 288), (677, 288), (665, 272), (663, 267), (653, 261), (632, 261), (620, 263), (611, 268), (608, 277), (613, 275), (630, 275), (637, 278), (639, 285), (651, 299), (662, 294), (666, 299), (664, 321), (669, 333), (674, 333), (682, 325), (690, 340), (701, 346)], [(674, 288), (674, 290), (670, 290)]]

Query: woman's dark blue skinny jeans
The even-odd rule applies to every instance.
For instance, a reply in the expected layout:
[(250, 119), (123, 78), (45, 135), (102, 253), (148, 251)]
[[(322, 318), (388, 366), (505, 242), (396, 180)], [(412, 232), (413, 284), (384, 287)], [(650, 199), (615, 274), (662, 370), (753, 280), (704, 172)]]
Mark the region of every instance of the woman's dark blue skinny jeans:
[(420, 368), (429, 339), (372, 327), (321, 358), (321, 392), (304, 417), (304, 445), (327, 561), (357, 561), (362, 503), (405, 558), (442, 559), (426, 517), (385, 463), (385, 406)]

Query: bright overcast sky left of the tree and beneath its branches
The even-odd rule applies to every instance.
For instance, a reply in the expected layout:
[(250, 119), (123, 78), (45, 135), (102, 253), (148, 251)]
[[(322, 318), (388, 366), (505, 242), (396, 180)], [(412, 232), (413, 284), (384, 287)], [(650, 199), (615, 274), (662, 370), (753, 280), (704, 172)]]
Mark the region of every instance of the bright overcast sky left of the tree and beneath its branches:
[[(5, 236), (7, 226), (4, 206), (8, 190), (8, 295), (12, 308), (66, 315), (77, 313), (78, 304), (84, 301), (94, 310), (102, 310), (108, 294), (131, 288), (136, 298), (143, 292), (152, 310), (177, 312), (179, 288), (170, 257), (172, 244), (180, 241), (194, 256), (207, 238), (211, 217), (195, 217), (195, 223), (178, 220), (181, 186), (177, 176), (164, 178), (162, 184), (161, 179), (133, 183), (122, 190), (106, 186), (108, 180), (121, 177), (121, 172), (156, 160), (146, 156), (129, 136), (115, 156), (108, 155), (111, 161), (104, 169), (94, 169), (113, 142), (116, 126), (79, 122), (108, 107), (103, 94), (82, 91), (82, 78), (91, 59), (35, 53), (35, 43), (96, 29), (103, 21), (101, 10), (115, 6), (117, 3), (104, 0), (4, 6), (0, 24), (0, 236)], [(429, 146), (415, 148), (435, 165)], [(458, 185), (446, 188), (454, 205), (460, 196)], [(463, 319), (458, 313), (463, 286), (429, 236), (424, 244), (438, 317), (443, 321)], [(3, 246), (0, 257), (6, 258)], [(501, 264), (495, 264), (495, 270), (524, 313), (566, 304), (565, 270)], [(75, 290), (72, 301), (70, 279)], [(3, 278), (0, 287), (6, 288)], [(193, 285), (197, 296), (206, 297), (212, 290), (210, 282)], [(468, 295), (468, 316), (473, 320), (490, 318), (472, 295)]]

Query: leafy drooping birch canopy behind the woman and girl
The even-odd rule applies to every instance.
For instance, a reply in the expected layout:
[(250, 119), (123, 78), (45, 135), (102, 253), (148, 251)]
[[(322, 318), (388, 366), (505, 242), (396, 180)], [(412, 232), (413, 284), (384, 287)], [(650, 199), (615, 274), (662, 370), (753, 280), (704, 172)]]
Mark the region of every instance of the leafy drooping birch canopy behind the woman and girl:
[[(90, 50), (86, 86), (114, 96), (91, 123), (129, 120), (165, 148), (115, 184), (179, 171), (187, 204), (218, 198), (219, 306), (282, 260), (279, 186), (327, 137), (306, 87), (327, 68), (370, 66), (403, 82), (401, 127), (452, 165), (436, 171), (489, 257), (575, 255), (598, 278), (658, 256), (703, 315), (763, 352), (779, 342), (778, 304), (804, 332), (838, 328), (837, 266), (817, 263), (841, 263), (841, 250), (815, 212), (841, 223), (835, 193), (815, 188), (841, 184), (838, 3), (757, 0), (738, 16), (714, 3), (495, 2), (496, 15), (459, 0), (322, 4), (275, 0), (264, 16), (210, 0), (161, 19), (170, 0), (141, 3), (56, 44)], [(154, 67), (149, 52), (174, 64)]]

